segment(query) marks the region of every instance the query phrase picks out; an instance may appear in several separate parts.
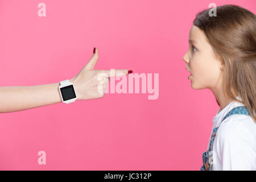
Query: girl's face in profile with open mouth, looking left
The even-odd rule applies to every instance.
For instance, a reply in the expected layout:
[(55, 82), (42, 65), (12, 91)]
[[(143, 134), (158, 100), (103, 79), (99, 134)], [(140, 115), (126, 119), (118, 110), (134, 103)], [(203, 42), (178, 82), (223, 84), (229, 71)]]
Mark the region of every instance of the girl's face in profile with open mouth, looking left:
[(188, 79), (193, 89), (212, 89), (221, 84), (221, 61), (214, 55), (204, 31), (194, 25), (189, 32), (189, 49), (183, 60), (187, 63), (186, 69), (191, 72)]

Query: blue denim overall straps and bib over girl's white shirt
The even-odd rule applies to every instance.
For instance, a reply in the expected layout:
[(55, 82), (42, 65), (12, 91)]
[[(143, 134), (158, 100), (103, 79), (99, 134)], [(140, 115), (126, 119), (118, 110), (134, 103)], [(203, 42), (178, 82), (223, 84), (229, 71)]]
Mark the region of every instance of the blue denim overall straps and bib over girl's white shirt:
[[(228, 114), (225, 115), (225, 117), (222, 119), (228, 118), (232, 114), (246, 114), (249, 115), (248, 110), (245, 106), (238, 106), (234, 107), (232, 110), (228, 112)], [(222, 123), (221, 121), (221, 123)], [(219, 125), (220, 126), (220, 125)], [(210, 137), (210, 143), (209, 143), (209, 149), (203, 153), (203, 166), (201, 166), (200, 171), (212, 171), (212, 150), (213, 150), (213, 142), (217, 134), (218, 127), (215, 127), (213, 129), (212, 136)]]

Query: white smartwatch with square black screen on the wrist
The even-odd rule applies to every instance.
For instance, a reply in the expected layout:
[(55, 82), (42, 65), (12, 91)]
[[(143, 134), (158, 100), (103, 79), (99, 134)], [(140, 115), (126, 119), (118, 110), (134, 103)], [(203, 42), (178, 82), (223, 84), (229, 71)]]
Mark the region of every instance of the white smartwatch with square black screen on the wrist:
[(62, 102), (69, 104), (76, 101), (76, 90), (69, 80), (60, 81), (59, 92)]

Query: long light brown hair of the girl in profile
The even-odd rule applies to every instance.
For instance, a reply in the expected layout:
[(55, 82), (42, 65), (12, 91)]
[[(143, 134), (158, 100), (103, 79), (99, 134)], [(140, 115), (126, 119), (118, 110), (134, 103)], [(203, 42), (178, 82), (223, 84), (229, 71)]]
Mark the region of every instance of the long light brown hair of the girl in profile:
[(193, 24), (224, 64), (225, 96), (244, 104), (256, 123), (256, 16), (236, 5), (217, 6), (217, 16), (209, 10), (198, 13)]

